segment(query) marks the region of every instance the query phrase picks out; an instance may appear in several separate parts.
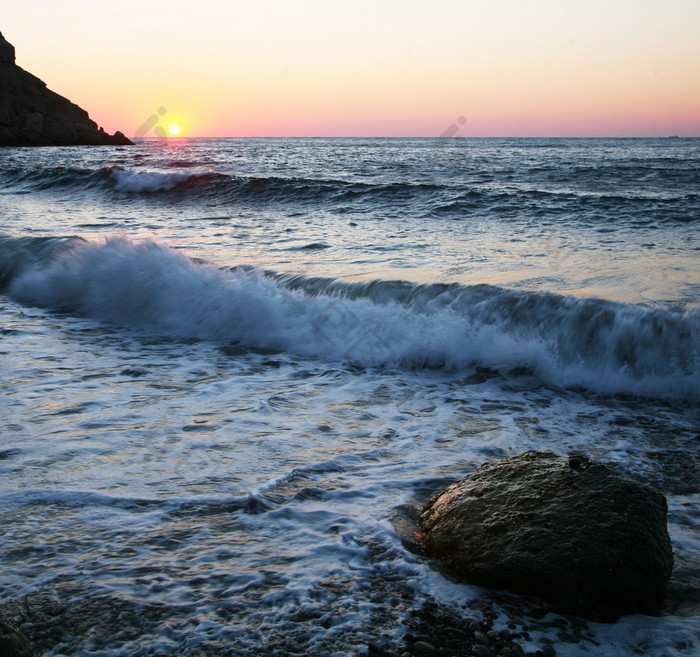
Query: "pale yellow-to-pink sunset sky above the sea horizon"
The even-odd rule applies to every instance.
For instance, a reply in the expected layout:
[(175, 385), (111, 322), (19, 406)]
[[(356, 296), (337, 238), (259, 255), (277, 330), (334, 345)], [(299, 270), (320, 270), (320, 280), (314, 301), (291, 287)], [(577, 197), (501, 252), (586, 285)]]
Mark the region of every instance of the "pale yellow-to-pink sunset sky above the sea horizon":
[(127, 136), (700, 136), (700, 0), (3, 0), (0, 31)]

